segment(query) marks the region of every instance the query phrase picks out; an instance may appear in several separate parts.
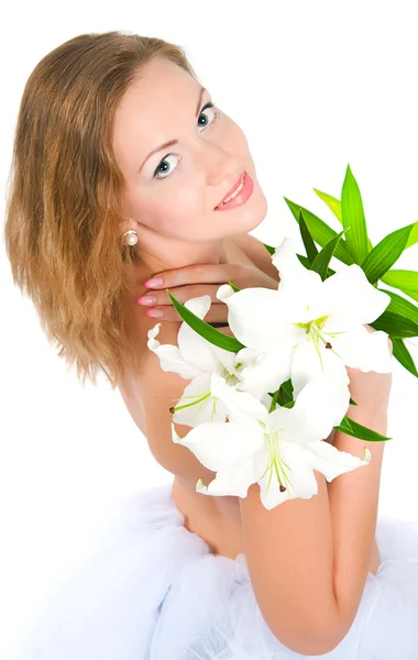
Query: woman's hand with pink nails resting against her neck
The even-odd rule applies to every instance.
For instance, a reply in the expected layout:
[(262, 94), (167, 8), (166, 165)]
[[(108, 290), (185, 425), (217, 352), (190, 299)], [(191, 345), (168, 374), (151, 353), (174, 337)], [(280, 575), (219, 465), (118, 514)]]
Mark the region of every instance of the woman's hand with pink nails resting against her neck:
[[(162, 283), (158, 286), (153, 286), (153, 280), (157, 277), (162, 279)], [(146, 294), (141, 296), (138, 301), (140, 305), (146, 305), (151, 308), (146, 311), (147, 316), (178, 322), (183, 319), (165, 289), (168, 288), (170, 294), (183, 304), (189, 298), (209, 295), (212, 304), (205, 317), (205, 321), (207, 323), (228, 323), (228, 306), (216, 297), (219, 287), (222, 284), (228, 284), (228, 280), (232, 282), (240, 289), (250, 287), (277, 289), (278, 272), (276, 282), (256, 266), (243, 264), (193, 264), (153, 275), (152, 279), (147, 280), (151, 287), (146, 287)], [(147, 302), (146, 299), (150, 296), (153, 296), (155, 300)]]

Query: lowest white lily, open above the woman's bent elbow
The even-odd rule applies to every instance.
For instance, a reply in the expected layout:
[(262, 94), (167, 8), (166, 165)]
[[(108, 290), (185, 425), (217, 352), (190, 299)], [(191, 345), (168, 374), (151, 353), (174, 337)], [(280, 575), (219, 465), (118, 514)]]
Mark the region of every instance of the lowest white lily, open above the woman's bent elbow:
[(257, 483), (265, 508), (286, 499), (310, 498), (318, 493), (314, 470), (327, 481), (366, 465), (360, 459), (326, 442), (345, 415), (350, 393), (346, 385), (322, 376), (308, 383), (293, 408), (268, 413), (250, 393), (239, 392), (218, 373), (210, 385), (213, 396), (229, 409), (229, 422), (207, 422), (180, 438), (172, 424), (173, 442), (188, 447), (202, 465), (217, 473), (208, 486), (199, 480), (198, 493), (246, 497)]

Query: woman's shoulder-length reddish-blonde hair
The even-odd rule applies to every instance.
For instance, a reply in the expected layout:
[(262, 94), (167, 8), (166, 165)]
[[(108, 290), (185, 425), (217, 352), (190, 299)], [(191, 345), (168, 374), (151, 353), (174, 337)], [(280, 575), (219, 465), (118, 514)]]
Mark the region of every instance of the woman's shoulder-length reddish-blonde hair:
[(185, 51), (121, 32), (76, 36), (35, 66), (23, 91), (9, 175), (4, 239), (14, 283), (77, 377), (112, 388), (128, 358), (122, 315), (135, 253), (121, 223), (125, 183), (113, 118), (155, 57), (197, 76)]

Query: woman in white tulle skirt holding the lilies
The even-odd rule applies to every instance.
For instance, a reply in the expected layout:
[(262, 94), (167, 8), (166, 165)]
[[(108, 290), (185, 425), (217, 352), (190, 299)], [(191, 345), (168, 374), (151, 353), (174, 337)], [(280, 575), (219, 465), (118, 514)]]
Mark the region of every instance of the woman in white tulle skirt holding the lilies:
[[(215, 473), (170, 439), (186, 382), (146, 343), (163, 321), (158, 340), (176, 344), (165, 288), (182, 302), (210, 294), (206, 320), (229, 332), (219, 285), (279, 282), (248, 235), (266, 210), (243, 132), (179, 47), (85, 34), (31, 74), (6, 226), (15, 282), (78, 376), (102, 371), (120, 389), (174, 480), (117, 507), (20, 658), (417, 657), (418, 526), (381, 519), (375, 538), (384, 443), (366, 443), (363, 470), (331, 483), (316, 472), (317, 496), (266, 510), (257, 484), (245, 498), (196, 493)], [(350, 370), (362, 405), (349, 416), (385, 433), (391, 385)], [(327, 440), (363, 455), (355, 438)]]

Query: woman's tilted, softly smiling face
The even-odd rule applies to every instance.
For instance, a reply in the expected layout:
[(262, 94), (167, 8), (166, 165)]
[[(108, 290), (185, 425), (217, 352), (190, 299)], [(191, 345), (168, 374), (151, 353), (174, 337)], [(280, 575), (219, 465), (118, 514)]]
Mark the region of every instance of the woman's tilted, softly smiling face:
[[(113, 148), (140, 244), (156, 237), (219, 242), (251, 231), (266, 215), (245, 135), (210, 101), (193, 76), (163, 58), (143, 67), (122, 98)], [(170, 140), (176, 144), (162, 146)], [(251, 197), (216, 211), (244, 170), (254, 183)]]

